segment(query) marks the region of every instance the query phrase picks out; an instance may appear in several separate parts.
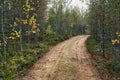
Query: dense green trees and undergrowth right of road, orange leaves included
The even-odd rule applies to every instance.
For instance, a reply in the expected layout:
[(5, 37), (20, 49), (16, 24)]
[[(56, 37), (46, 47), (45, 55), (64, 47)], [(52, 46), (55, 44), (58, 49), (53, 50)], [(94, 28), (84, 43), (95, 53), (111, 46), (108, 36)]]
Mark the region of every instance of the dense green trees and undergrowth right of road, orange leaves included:
[[(91, 30), (92, 38), (97, 41), (98, 51), (105, 58), (105, 63), (101, 61), (104, 67), (113, 75), (119, 75), (118, 66), (120, 67), (120, 1), (119, 0), (92, 0), (90, 1), (89, 11), (89, 29)], [(116, 34), (115, 34), (116, 33)], [(116, 36), (117, 35), (117, 36)], [(93, 42), (88, 40), (89, 44)], [(96, 42), (95, 42), (96, 43)], [(96, 52), (96, 45), (88, 45), (88, 50)], [(113, 45), (112, 45), (113, 44)], [(91, 48), (93, 47), (93, 48)], [(95, 49), (95, 50), (94, 50)], [(99, 53), (100, 53), (99, 52)], [(96, 58), (97, 60), (98, 58)], [(114, 77), (114, 76), (113, 76)], [(119, 76), (120, 77), (120, 76)], [(117, 79), (116, 79), (117, 80)]]

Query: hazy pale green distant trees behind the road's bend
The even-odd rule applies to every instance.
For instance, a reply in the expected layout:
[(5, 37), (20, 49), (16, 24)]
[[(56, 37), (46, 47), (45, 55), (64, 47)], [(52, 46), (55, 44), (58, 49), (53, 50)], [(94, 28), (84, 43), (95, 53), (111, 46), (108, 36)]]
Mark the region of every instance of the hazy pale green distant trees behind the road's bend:
[[(62, 3), (65, 4), (64, 2)], [(64, 11), (64, 8), (61, 8), (61, 6), (64, 6), (63, 4), (58, 3), (58, 6), (54, 4), (49, 10), (48, 23), (51, 25), (53, 32), (68, 35), (85, 34), (86, 26), (79, 8), (69, 9), (65, 7), (66, 10)]]

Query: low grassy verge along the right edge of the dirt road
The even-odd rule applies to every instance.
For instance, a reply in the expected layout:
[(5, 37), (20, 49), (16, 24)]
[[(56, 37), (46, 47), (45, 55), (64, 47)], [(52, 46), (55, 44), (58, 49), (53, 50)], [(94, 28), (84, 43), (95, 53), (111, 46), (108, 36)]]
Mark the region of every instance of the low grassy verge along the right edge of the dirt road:
[(100, 54), (99, 42), (89, 37), (86, 46), (95, 61), (102, 80), (120, 80), (120, 67), (111, 54), (109, 49), (105, 51), (105, 58)]

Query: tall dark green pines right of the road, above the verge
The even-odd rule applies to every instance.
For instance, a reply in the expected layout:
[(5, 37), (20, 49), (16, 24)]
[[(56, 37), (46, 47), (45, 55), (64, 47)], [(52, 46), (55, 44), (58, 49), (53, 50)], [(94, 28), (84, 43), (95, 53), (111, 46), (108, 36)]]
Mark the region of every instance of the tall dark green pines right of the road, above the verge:
[[(99, 42), (101, 53), (105, 57), (105, 49), (114, 53), (115, 59), (119, 62), (119, 46), (112, 46), (111, 40), (116, 38), (115, 33), (119, 32), (120, 19), (119, 0), (92, 0), (89, 11), (89, 26), (91, 35)], [(114, 41), (113, 41), (114, 42)]]

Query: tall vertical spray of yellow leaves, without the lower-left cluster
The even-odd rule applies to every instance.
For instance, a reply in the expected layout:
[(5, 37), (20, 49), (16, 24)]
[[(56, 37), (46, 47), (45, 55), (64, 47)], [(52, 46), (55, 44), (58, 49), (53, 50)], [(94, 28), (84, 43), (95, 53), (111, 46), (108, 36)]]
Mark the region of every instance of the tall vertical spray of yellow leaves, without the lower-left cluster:
[[(25, 5), (23, 6), (25, 17), (27, 18), (27, 20), (23, 20), (23, 24), (30, 25), (31, 31), (29, 31), (29, 32), (36, 33), (38, 31), (38, 27), (37, 27), (37, 23), (36, 23), (37, 14), (34, 13), (32, 16), (30, 16), (30, 11), (33, 11), (35, 9), (34, 6), (31, 6), (30, 2), (32, 2), (32, 0), (26, 0)], [(30, 34), (28, 32), (26, 32), (26, 33)]]

